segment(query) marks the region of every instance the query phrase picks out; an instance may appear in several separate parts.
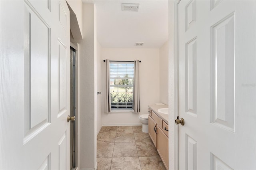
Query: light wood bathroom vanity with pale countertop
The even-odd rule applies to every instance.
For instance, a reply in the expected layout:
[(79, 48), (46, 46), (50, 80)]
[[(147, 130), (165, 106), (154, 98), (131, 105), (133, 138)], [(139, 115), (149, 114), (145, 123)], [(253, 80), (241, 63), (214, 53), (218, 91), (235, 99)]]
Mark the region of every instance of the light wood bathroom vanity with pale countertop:
[[(169, 169), (168, 156), (168, 113), (160, 112), (168, 105), (148, 105), (148, 134), (156, 146), (164, 166)], [(160, 109), (160, 111), (158, 111)]]

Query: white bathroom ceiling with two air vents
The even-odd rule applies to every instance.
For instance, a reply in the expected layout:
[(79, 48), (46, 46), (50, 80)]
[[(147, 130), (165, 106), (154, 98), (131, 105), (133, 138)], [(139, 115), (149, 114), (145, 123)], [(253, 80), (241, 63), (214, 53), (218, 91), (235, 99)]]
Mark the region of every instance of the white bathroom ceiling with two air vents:
[[(92, 2), (85, 0), (84, 2)], [(94, 0), (97, 39), (106, 48), (159, 48), (168, 40), (168, 0)], [(138, 12), (122, 3), (140, 4)], [(143, 46), (135, 46), (144, 42)]]

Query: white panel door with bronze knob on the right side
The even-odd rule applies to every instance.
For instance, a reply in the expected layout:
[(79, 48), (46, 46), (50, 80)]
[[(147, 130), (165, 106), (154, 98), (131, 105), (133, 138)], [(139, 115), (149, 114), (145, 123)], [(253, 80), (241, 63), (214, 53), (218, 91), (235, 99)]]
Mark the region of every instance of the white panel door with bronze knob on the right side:
[(256, 169), (256, 1), (177, 3), (179, 169)]

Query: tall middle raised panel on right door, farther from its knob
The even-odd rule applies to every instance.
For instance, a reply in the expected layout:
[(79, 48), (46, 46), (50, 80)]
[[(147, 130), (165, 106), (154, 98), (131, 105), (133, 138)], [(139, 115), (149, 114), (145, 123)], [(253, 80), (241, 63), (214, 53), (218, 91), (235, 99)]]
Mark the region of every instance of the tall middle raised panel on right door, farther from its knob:
[[(235, 12), (210, 28), (211, 123), (235, 132)], [(218, 45), (217, 45), (218, 44)], [(230, 64), (231, 63), (231, 64)]]

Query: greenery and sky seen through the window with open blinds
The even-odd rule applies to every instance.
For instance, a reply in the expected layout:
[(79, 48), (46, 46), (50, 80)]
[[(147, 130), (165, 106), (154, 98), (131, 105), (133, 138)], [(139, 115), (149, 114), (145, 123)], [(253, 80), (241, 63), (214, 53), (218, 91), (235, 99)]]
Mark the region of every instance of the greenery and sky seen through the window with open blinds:
[(134, 62), (110, 61), (111, 110), (132, 110)]

